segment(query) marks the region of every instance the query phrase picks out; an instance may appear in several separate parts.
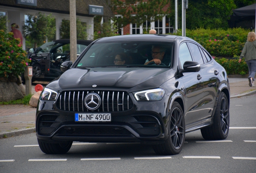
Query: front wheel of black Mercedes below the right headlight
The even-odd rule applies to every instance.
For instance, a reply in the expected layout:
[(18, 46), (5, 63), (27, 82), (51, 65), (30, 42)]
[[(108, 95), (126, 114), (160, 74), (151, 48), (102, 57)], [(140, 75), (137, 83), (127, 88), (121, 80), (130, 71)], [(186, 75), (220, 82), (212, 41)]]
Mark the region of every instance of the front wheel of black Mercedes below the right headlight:
[(153, 145), (159, 155), (176, 155), (182, 150), (185, 140), (184, 113), (179, 103), (173, 102), (171, 107), (168, 138), (163, 144)]

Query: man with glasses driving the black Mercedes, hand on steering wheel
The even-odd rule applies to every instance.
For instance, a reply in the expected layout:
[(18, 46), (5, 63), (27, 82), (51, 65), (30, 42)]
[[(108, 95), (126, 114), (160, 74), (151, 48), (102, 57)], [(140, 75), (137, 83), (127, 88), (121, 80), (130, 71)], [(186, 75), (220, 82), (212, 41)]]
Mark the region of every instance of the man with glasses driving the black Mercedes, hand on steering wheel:
[[(169, 65), (170, 60), (168, 59), (168, 57), (165, 56), (165, 52), (166, 49), (164, 47), (161, 46), (152, 46), (152, 51), (150, 52), (152, 55), (152, 60), (147, 59), (146, 63), (144, 65), (147, 64), (165, 64), (165, 65)], [(152, 62), (152, 63), (151, 63)]]

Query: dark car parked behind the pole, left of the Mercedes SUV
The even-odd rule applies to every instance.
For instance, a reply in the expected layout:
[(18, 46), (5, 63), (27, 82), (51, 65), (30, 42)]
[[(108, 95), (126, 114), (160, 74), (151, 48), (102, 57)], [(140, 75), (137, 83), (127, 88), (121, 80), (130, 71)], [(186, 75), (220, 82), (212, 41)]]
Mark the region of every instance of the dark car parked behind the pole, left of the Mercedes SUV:
[[(93, 41), (77, 40), (77, 56)], [(37, 48), (31, 48), (28, 58), (31, 58), (30, 66), (33, 66), (32, 80), (38, 78), (49, 78), (50, 80), (62, 74), (61, 62), (64, 62), (70, 54), (70, 39), (54, 40), (47, 42)], [(23, 76), (22, 76), (23, 78)], [(23, 78), (23, 81), (24, 78)]]

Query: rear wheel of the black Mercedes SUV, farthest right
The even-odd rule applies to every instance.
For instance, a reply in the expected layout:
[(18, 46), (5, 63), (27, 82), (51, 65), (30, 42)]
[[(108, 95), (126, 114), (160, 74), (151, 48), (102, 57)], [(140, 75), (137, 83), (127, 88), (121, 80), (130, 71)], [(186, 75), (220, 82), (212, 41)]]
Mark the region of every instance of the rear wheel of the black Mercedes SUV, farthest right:
[(223, 140), (229, 133), (229, 104), (226, 95), (221, 92), (213, 117), (213, 125), (201, 129), (205, 140)]

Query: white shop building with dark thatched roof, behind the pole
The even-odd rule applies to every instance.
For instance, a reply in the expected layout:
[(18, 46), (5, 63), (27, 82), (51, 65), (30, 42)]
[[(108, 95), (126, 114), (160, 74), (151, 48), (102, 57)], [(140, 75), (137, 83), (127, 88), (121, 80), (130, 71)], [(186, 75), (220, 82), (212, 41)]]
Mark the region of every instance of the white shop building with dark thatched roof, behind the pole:
[[(76, 0), (76, 18), (87, 24), (88, 40), (93, 40), (93, 18), (95, 13), (90, 13), (91, 6), (99, 6), (104, 17), (112, 17), (111, 9), (105, 0)], [(45, 15), (52, 14), (56, 20), (56, 39), (60, 39), (60, 25), (62, 20), (70, 20), (69, 0), (1, 0), (0, 12), (5, 14), (10, 25), (16, 23), (22, 32), (22, 25), (27, 14), (37, 14), (41, 12)], [(95, 10), (97, 12), (97, 9)], [(42, 26), (43, 27), (43, 26)], [(25, 50), (25, 38), (23, 38), (23, 49)]]

